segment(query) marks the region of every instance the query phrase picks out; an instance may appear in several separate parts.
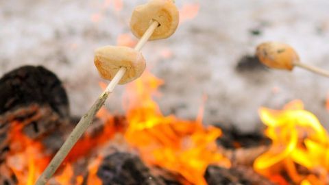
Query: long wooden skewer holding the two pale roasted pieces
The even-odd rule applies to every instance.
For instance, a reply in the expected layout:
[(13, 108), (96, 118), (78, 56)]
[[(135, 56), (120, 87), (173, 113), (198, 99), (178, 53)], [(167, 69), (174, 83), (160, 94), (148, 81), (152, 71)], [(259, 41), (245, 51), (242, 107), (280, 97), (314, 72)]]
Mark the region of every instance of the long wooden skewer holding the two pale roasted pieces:
[[(135, 46), (136, 51), (141, 51), (147, 40), (149, 40), (149, 37), (154, 33), (154, 30), (156, 27), (158, 27), (159, 23), (157, 21), (153, 21), (149, 28), (146, 30), (146, 32), (143, 34), (141, 40), (138, 41), (137, 45)], [(87, 128), (91, 125), (93, 122), (93, 119), (98, 112), (98, 110), (103, 106), (104, 102), (108, 98), (108, 95), (113, 92), (115, 86), (119, 83), (120, 79), (125, 75), (125, 72), (127, 69), (125, 67), (121, 67), (117, 74), (113, 77), (112, 81), (106, 89), (101, 93), (101, 95), (98, 97), (98, 99), (95, 101), (93, 106), (82, 116), (79, 123), (75, 126), (74, 130), (71, 132), (69, 137), (65, 140), (64, 144), (56, 155), (53, 157), (51, 162), (48, 164), (47, 168), (43, 173), (40, 175), (38, 180), (36, 181), (36, 185), (44, 185), (48, 182), (48, 180), (51, 178), (53, 173), (56, 172), (58, 167), (60, 167), (60, 164), (62, 164), (64, 158), (66, 158), (67, 154), (69, 154), (69, 151), (73, 148), (75, 143), (77, 143), (77, 140), (84, 134), (84, 132), (87, 130)]]

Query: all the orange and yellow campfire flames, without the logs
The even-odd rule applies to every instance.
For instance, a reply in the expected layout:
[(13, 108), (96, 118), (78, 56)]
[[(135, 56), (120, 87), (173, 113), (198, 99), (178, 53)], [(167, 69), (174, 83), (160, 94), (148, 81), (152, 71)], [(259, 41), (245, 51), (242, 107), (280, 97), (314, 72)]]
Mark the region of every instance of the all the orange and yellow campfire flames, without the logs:
[[(196, 121), (184, 121), (164, 116), (152, 99), (163, 84), (149, 72), (127, 85), (124, 106), (129, 125), (116, 125), (114, 117), (102, 108), (97, 117), (104, 122), (96, 136), (86, 133), (75, 145), (53, 182), (82, 184), (83, 174), (76, 174), (74, 163), (88, 157), (90, 151), (111, 140), (114, 134), (123, 134), (130, 147), (136, 149), (149, 165), (156, 165), (180, 174), (182, 184), (206, 184), (204, 172), (209, 164), (230, 167), (217, 148), (215, 140), (221, 130), (202, 125), (200, 108)], [(105, 84), (100, 83), (101, 86)], [(204, 96), (204, 100), (206, 96)], [(254, 169), (278, 184), (326, 184), (329, 171), (329, 136), (314, 114), (304, 110), (302, 101), (295, 100), (284, 110), (260, 108), (260, 118), (267, 125), (265, 134), (272, 144), (266, 153), (254, 162)], [(6, 164), (19, 184), (33, 184), (49, 162), (42, 144), (25, 136), (23, 124), (13, 122), (10, 130), (10, 155)], [(97, 170), (102, 156), (91, 158), (86, 184), (101, 184)]]

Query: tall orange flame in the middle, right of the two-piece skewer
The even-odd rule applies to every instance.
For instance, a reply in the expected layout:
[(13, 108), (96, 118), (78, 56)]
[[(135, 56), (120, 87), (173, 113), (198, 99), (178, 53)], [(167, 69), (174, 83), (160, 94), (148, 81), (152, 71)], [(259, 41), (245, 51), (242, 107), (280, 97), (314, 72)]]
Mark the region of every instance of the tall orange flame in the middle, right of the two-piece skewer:
[(192, 184), (206, 184), (203, 176), (209, 164), (230, 167), (230, 161), (218, 152), (215, 142), (221, 130), (204, 127), (201, 121), (163, 116), (151, 97), (162, 83), (145, 71), (127, 85), (127, 92), (133, 93), (126, 96), (130, 125), (125, 138), (147, 164), (179, 173)]

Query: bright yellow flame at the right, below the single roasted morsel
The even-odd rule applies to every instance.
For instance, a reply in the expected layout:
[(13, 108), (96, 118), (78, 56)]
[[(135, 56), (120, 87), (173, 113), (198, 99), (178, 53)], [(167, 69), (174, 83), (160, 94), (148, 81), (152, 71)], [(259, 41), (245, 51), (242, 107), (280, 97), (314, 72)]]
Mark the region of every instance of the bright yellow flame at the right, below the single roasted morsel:
[(291, 101), (284, 110), (260, 108), (259, 113), (272, 144), (254, 169), (278, 184), (327, 184), (329, 136), (302, 101)]

